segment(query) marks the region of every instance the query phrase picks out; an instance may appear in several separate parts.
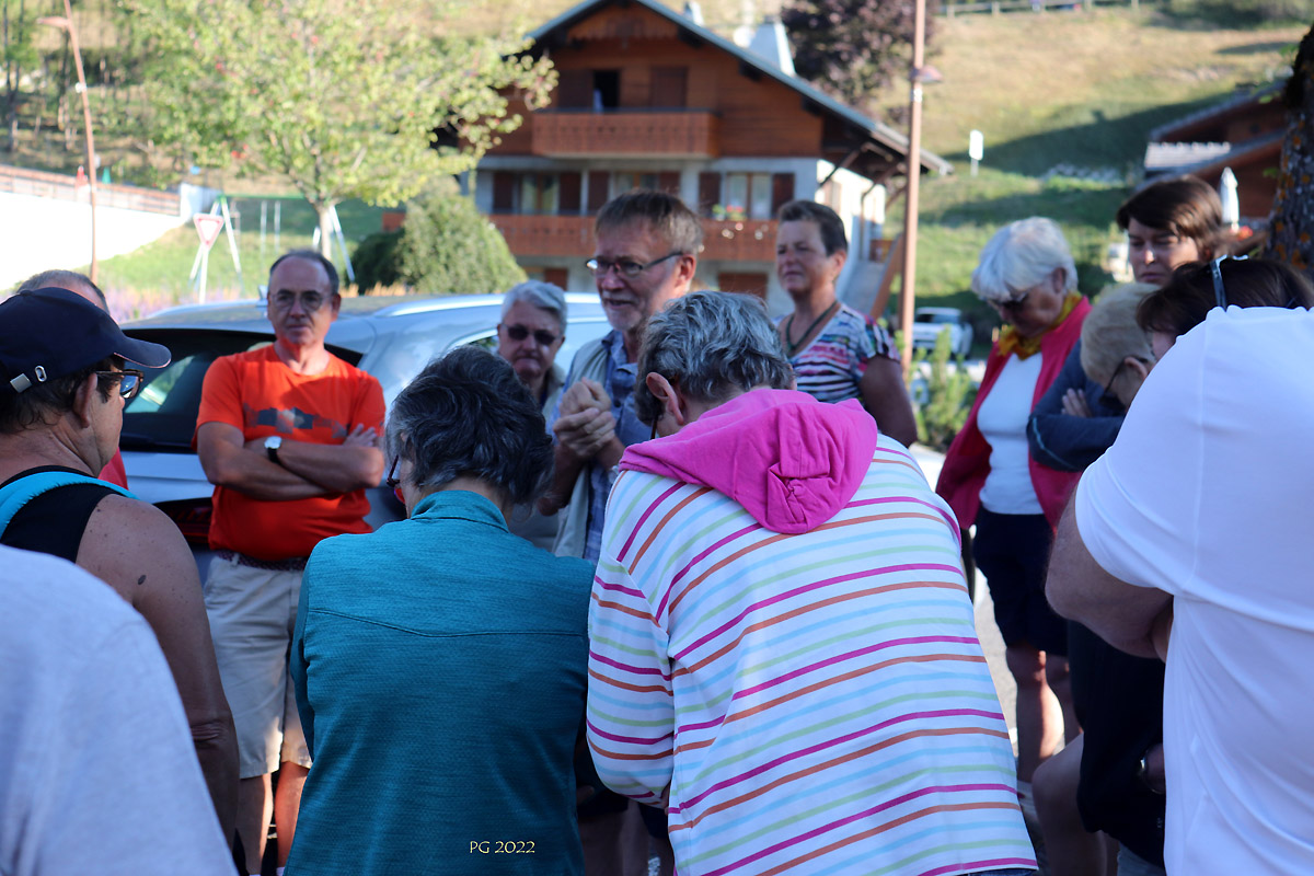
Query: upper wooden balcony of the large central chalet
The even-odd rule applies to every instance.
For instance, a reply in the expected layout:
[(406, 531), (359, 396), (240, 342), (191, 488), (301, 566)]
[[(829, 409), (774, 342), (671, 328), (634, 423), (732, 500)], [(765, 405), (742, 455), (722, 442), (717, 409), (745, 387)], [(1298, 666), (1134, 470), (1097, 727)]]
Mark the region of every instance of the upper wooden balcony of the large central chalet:
[(703, 110), (540, 110), (533, 154), (555, 158), (716, 158), (720, 118)]

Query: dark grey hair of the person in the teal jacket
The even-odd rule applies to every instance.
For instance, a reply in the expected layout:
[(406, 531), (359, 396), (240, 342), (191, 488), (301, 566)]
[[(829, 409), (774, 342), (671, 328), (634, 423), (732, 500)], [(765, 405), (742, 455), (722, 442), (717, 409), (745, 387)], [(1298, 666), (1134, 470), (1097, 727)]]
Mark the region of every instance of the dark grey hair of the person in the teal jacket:
[(539, 403), (502, 359), (457, 347), (424, 366), (393, 401), (388, 454), (413, 468), (406, 481), (442, 487), (480, 478), (515, 504), (552, 479), (552, 439)]

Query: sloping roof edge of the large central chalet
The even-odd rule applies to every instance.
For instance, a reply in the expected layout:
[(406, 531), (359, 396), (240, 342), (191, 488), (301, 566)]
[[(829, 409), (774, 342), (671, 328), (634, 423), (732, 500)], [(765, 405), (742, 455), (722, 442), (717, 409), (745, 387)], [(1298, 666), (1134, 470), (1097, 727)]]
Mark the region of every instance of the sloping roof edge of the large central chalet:
[[(608, 5), (627, 5), (633, 4), (643, 7), (653, 12), (654, 14), (666, 18), (674, 24), (681, 30), (681, 35), (691, 38), (695, 41), (706, 42), (724, 53), (733, 55), (741, 64), (754, 71), (759, 76), (770, 76), (771, 79), (787, 85), (796, 91), (804, 100), (811, 101), (823, 113), (829, 114), (834, 121), (855, 129), (865, 139), (875, 143), (887, 152), (895, 154), (900, 158), (907, 158), (908, 155), (908, 138), (900, 134), (895, 129), (878, 122), (875, 120), (867, 118), (851, 106), (846, 106), (833, 97), (824, 95), (808, 83), (803, 81), (798, 76), (791, 76), (777, 67), (773, 67), (767, 60), (759, 58), (757, 54), (741, 49), (729, 39), (720, 37), (707, 28), (694, 24), (690, 18), (679, 14), (674, 9), (658, 3), (657, 0), (583, 0), (576, 7), (562, 12), (556, 18), (548, 21), (547, 24), (539, 26), (530, 33), (530, 38), (533, 39), (535, 46), (552, 42), (553, 37), (560, 37), (565, 34), (566, 30), (573, 28), (579, 21), (590, 17), (599, 9)], [(928, 150), (921, 150), (921, 167), (924, 171), (934, 171), (936, 173), (953, 173), (953, 164), (940, 158), (934, 152)]]

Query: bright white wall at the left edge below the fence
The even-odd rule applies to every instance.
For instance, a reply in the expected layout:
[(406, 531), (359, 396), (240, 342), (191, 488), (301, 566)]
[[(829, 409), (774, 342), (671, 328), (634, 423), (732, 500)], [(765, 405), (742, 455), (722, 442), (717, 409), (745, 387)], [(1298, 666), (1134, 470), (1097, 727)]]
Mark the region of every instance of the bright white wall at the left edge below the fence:
[[(120, 208), (96, 209), (96, 255), (131, 252), (187, 219)], [(0, 193), (0, 289), (39, 271), (91, 264), (91, 206), (75, 201)]]

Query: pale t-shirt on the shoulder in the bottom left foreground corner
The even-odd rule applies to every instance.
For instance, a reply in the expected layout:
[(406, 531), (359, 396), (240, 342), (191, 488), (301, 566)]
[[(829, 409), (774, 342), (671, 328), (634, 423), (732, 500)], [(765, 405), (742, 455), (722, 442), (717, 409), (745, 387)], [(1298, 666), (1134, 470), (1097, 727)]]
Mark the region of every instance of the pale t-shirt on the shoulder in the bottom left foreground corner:
[(0, 872), (231, 876), (155, 634), (72, 563), (0, 548)]

